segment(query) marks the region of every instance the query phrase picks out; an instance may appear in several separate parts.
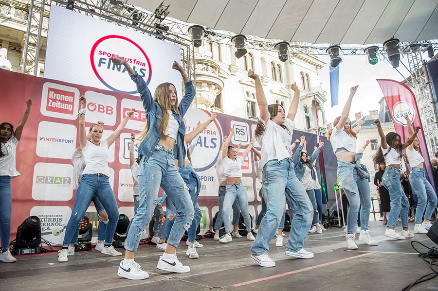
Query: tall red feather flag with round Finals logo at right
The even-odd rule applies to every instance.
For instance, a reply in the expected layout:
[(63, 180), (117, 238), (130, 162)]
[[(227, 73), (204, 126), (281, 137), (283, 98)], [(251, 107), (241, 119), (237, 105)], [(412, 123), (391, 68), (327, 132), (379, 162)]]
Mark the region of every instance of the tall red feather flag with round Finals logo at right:
[[(420, 125), (422, 127), (415, 95), (408, 86), (400, 82), (386, 79), (376, 79), (376, 81), (382, 88), (395, 130), (402, 137), (402, 142), (404, 142), (409, 137), (407, 123), (404, 119), (405, 115), (409, 116), (414, 126)], [(419, 151), (424, 157), (426, 176), (430, 184), (435, 186), (432, 165), (430, 164), (430, 157), (422, 130), (420, 130), (417, 137), (420, 140)]]

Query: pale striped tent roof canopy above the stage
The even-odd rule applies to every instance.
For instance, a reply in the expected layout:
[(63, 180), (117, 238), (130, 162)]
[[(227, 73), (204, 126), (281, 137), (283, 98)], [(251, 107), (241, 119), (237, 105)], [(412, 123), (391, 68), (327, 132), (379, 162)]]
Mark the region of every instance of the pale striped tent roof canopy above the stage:
[[(128, 0), (155, 11), (162, 0)], [(164, 0), (170, 17), (212, 29), (332, 44), (438, 38), (438, 0)]]

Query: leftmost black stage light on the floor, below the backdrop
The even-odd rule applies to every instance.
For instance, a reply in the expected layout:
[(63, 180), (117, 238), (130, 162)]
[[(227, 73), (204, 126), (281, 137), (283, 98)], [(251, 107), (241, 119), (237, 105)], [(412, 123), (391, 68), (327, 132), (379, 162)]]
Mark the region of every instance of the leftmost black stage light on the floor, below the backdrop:
[(15, 254), (39, 254), (41, 222), (37, 216), (29, 216), (17, 228)]

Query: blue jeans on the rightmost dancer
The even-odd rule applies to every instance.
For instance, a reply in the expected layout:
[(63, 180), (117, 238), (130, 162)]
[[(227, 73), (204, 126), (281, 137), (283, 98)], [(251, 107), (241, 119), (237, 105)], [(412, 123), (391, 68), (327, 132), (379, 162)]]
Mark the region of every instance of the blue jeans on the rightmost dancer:
[(409, 182), (418, 197), (415, 223), (421, 223), (424, 210), (426, 210), (424, 213), (424, 219), (430, 220), (435, 207), (437, 207), (437, 194), (432, 185), (430, 185), (429, 181), (426, 179), (426, 171), (419, 167), (412, 168), (411, 174), (409, 175)]

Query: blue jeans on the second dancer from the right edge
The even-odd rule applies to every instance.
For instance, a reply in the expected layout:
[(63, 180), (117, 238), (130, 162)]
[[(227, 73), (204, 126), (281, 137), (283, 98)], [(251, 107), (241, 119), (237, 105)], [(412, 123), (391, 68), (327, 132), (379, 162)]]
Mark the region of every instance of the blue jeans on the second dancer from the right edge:
[(397, 219), (402, 219), (402, 226), (408, 227), (409, 203), (400, 183), (400, 170), (396, 167), (387, 167), (382, 176), (383, 186), (388, 189), (391, 200), (391, 211), (387, 214), (386, 227), (395, 227)]

